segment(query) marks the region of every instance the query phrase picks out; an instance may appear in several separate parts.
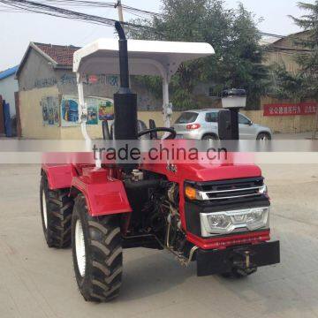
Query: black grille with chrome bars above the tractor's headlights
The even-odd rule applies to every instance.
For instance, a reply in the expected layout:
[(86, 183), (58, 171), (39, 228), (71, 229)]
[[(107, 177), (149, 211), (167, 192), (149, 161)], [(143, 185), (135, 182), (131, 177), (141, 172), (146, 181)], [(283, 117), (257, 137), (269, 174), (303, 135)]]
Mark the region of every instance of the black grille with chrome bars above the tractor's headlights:
[(261, 197), (263, 178), (248, 178), (196, 184), (202, 201), (237, 201)]

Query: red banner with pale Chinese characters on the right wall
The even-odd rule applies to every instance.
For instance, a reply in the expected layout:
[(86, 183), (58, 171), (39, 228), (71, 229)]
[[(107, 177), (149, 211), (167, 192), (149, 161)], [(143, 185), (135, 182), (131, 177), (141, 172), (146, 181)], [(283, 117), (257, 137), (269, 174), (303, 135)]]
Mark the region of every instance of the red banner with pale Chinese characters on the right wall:
[(300, 102), (298, 104), (264, 105), (264, 116), (297, 116), (314, 115), (318, 110), (316, 102)]

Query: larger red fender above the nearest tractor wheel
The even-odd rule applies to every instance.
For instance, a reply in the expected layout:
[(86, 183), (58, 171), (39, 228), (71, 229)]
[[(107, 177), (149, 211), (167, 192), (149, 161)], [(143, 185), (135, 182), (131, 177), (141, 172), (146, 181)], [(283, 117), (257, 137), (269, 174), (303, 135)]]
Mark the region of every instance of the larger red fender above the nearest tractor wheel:
[(109, 170), (84, 168), (72, 178), (71, 195), (83, 193), (90, 216), (110, 216), (133, 212), (122, 181), (111, 178)]

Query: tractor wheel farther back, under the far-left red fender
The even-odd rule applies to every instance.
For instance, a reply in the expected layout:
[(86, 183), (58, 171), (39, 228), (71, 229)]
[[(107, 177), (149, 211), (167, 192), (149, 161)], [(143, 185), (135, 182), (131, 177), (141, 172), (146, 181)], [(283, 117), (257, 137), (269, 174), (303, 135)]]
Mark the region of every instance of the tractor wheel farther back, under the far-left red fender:
[(74, 203), (68, 193), (67, 189), (50, 190), (48, 178), (42, 176), (40, 185), (42, 227), (49, 247), (71, 246)]

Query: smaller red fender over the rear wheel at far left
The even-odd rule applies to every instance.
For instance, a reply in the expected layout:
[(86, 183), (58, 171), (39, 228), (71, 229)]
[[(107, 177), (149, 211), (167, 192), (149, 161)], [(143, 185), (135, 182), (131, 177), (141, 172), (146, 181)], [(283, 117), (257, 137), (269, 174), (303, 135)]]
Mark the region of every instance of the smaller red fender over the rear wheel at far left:
[(70, 188), (72, 186), (72, 178), (78, 176), (72, 164), (42, 164), (43, 173), (48, 178), (50, 190)]

